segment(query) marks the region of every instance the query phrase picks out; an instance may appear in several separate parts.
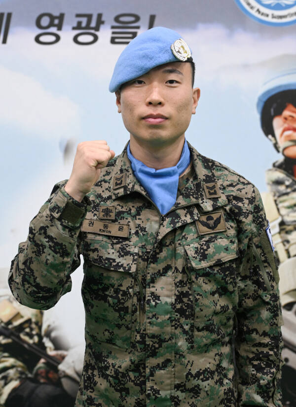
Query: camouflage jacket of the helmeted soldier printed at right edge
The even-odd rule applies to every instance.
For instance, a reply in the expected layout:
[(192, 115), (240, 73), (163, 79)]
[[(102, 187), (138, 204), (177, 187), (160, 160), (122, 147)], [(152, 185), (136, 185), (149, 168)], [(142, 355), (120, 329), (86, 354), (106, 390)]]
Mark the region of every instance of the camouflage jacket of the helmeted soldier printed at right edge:
[[(288, 161), (288, 162), (287, 162)], [(288, 257), (296, 256), (296, 179), (287, 159), (266, 171), (266, 183), (281, 216), (280, 236)]]

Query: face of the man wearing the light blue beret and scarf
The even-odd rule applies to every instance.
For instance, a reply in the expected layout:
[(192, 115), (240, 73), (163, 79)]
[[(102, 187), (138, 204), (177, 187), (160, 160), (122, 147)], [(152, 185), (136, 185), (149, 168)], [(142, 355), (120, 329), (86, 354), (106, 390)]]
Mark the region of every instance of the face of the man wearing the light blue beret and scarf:
[(131, 138), (157, 146), (184, 136), (200, 95), (191, 78), (190, 64), (173, 62), (124, 84), (116, 104)]

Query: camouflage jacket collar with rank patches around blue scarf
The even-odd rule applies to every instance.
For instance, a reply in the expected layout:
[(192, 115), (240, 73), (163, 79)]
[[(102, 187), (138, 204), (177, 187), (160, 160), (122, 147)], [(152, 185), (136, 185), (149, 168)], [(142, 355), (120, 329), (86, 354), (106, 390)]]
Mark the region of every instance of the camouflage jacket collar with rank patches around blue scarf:
[[(127, 144), (123, 152), (117, 157), (114, 166), (111, 180), (112, 199), (117, 199), (132, 192), (139, 192), (149, 199), (146, 190), (133, 173), (130, 161), (127, 157)], [(198, 204), (203, 212), (209, 212), (227, 204), (222, 186), (219, 184), (211, 169), (209, 159), (200, 155), (189, 143), (188, 147), (191, 153), (195, 174), (191, 182), (188, 182), (182, 189), (181, 194), (170, 212), (192, 204)]]

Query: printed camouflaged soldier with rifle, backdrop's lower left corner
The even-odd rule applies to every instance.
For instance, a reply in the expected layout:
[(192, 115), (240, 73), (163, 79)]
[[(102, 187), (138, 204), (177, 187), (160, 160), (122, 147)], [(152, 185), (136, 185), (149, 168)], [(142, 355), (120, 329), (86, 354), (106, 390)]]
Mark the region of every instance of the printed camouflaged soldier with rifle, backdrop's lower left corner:
[[(57, 369), (66, 352), (54, 352), (54, 365), (42, 359), (39, 350), (51, 358), (43, 343), (43, 311), (19, 304), (9, 292), (8, 271), (0, 271), (0, 406), (74, 406)], [(46, 341), (53, 350), (50, 339)]]

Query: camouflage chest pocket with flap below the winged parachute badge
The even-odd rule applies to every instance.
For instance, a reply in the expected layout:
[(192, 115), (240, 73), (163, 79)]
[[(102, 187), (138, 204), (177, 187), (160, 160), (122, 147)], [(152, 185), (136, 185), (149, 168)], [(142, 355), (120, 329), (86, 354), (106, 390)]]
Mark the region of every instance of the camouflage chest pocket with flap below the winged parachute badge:
[(237, 237), (211, 237), (184, 247), (193, 302), (193, 343), (202, 350), (221, 342), (231, 327), (237, 302)]

